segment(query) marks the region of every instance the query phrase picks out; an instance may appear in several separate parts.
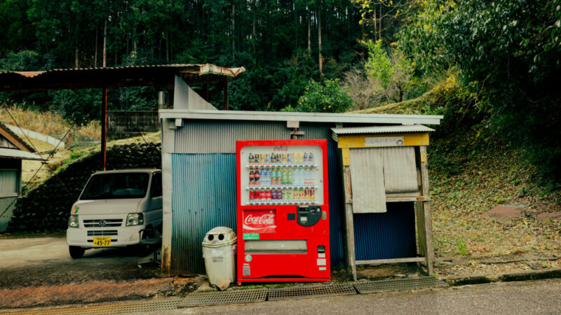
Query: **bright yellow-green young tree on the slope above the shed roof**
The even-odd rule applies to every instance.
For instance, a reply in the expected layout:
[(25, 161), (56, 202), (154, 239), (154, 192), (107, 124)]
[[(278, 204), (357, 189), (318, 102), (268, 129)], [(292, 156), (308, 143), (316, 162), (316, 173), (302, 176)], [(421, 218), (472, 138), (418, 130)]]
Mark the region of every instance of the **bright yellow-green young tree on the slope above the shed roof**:
[(378, 83), (379, 90), (385, 94), (386, 99), (403, 101), (405, 89), (413, 74), (411, 60), (398, 50), (390, 50), (391, 56), (388, 56), (381, 47), (381, 39), (375, 43), (366, 41), (365, 45), (368, 47), (365, 68), (370, 78)]

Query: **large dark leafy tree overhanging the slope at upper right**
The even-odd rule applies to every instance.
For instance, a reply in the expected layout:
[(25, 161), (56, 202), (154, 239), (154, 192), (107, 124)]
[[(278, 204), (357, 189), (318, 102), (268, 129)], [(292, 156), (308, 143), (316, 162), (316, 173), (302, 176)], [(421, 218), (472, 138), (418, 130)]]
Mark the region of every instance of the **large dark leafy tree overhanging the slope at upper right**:
[(474, 101), (464, 113), (480, 113), (494, 136), (561, 181), (561, 0), (430, 0), (410, 18), (399, 47), (419, 71), (458, 69)]

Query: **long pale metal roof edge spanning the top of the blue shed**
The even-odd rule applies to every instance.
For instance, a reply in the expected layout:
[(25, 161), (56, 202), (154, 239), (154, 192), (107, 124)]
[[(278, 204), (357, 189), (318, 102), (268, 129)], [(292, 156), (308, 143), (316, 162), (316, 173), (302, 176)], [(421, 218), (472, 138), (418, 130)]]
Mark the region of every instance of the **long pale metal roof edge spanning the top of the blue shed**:
[[(161, 109), (160, 118), (210, 120), (299, 121), (311, 123), (367, 123), (393, 125), (440, 125), (442, 116), (358, 113), (292, 113), (273, 111), (200, 111)], [(424, 126), (423, 126), (424, 127)]]

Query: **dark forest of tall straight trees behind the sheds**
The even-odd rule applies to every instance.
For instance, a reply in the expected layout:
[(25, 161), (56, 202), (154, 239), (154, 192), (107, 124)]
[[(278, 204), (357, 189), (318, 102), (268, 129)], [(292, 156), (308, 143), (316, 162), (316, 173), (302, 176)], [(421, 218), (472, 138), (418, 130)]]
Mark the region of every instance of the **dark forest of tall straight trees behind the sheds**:
[[(231, 108), (282, 109), (295, 105), (310, 79), (341, 77), (363, 59), (359, 20), (353, 3), (339, 0), (4, 0), (0, 69), (245, 66), (231, 83)], [(154, 106), (153, 92), (112, 91), (110, 107), (147, 109)], [(27, 95), (25, 102), (72, 111), (76, 106), (69, 103), (88, 93)], [(96, 102), (95, 96), (86, 98)]]

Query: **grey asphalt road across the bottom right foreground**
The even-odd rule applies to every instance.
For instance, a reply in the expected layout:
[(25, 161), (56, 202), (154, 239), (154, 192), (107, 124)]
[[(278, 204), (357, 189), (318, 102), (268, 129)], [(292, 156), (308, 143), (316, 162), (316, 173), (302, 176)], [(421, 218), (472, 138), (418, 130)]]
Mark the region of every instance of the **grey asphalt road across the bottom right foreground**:
[(561, 314), (561, 279), (177, 309), (161, 314)]

